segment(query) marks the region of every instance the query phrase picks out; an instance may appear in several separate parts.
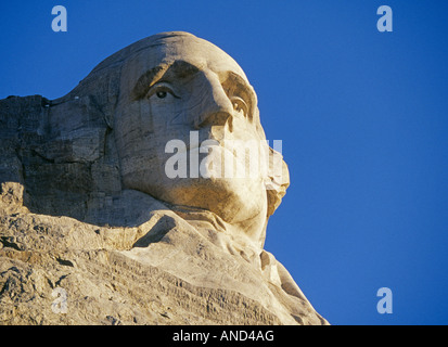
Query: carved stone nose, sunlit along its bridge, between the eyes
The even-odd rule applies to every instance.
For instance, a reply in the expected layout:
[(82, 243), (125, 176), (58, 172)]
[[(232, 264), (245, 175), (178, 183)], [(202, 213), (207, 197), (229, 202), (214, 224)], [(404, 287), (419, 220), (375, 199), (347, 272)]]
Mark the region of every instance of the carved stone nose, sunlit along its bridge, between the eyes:
[(226, 94), (217, 76), (206, 76), (203, 85), (206, 89), (201, 101), (201, 112), (194, 118), (194, 128), (205, 126), (225, 126), (230, 123), (233, 115), (233, 105)]

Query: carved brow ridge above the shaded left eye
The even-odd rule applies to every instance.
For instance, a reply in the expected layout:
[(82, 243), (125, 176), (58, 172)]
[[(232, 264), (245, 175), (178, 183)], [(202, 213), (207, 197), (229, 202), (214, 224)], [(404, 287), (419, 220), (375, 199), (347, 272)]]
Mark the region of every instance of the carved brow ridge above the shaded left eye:
[(141, 75), (137, 80), (132, 89), (132, 99), (135, 101), (142, 99), (146, 95), (149, 89), (164, 77), (168, 79), (182, 79), (196, 74), (199, 70), (196, 66), (184, 61), (175, 61), (172, 64), (155, 66)]

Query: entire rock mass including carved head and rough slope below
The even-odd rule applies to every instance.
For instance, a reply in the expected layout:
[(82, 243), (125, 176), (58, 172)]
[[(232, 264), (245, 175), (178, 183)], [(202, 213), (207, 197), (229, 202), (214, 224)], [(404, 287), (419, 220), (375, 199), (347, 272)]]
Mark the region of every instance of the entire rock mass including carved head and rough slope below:
[[(219, 176), (247, 139), (280, 165)], [(170, 140), (190, 141), (177, 174), (215, 164), (172, 176)], [(0, 184), (0, 324), (328, 324), (263, 249), (289, 177), (255, 92), (190, 34), (125, 48), (61, 99), (1, 100)]]

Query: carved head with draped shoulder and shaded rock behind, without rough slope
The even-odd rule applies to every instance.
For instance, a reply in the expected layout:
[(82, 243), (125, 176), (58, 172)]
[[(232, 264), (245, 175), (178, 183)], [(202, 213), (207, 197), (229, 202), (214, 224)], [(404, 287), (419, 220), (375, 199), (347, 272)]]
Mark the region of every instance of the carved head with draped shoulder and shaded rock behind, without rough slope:
[[(126, 258), (241, 293), (286, 324), (327, 324), (264, 250), (287, 167), (222, 50), (163, 33), (105, 59), (65, 97), (1, 102), (3, 206), (14, 182), (21, 213), (102, 227)], [(222, 175), (251, 163), (251, 175)]]

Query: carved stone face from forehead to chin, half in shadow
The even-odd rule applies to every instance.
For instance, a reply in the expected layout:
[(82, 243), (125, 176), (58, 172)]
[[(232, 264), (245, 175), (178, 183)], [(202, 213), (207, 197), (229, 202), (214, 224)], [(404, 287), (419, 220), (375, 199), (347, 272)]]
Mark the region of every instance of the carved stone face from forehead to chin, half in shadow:
[[(216, 141), (208, 158), (233, 156), (227, 143), (252, 140), (260, 154), (266, 146), (256, 94), (241, 67), (216, 46), (178, 34), (159, 36), (136, 52), (121, 69), (114, 118), (126, 188), (174, 205), (210, 210), (228, 222), (260, 214), (266, 218), (261, 170), (255, 176), (226, 178), (205, 167), (208, 177), (195, 177), (199, 168), (194, 166), (206, 153), (190, 165), (205, 140)], [(187, 177), (167, 176), (166, 164), (174, 153), (166, 153), (166, 145), (171, 140), (187, 145)], [(234, 156), (245, 160), (241, 154)]]

